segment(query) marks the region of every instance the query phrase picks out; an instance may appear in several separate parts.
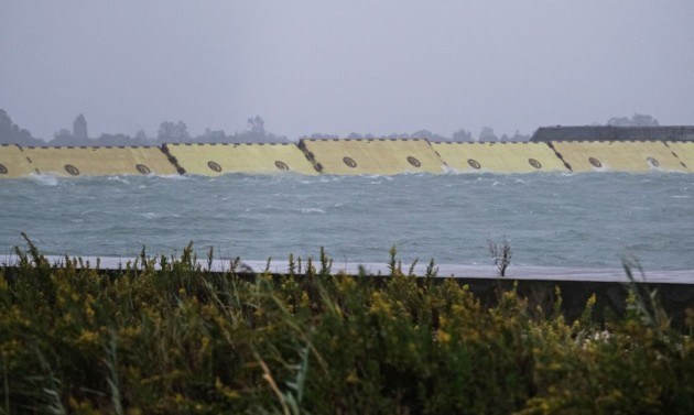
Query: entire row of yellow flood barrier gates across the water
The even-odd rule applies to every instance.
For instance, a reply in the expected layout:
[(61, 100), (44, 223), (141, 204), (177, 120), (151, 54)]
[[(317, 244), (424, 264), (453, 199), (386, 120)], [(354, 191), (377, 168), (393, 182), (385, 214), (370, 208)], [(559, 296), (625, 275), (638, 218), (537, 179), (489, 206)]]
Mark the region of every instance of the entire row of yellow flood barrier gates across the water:
[(430, 142), (421, 139), (301, 140), (294, 143), (22, 148), (0, 145), (0, 178), (47, 174), (218, 176), (230, 173), (393, 175), (447, 172), (694, 173), (694, 142)]

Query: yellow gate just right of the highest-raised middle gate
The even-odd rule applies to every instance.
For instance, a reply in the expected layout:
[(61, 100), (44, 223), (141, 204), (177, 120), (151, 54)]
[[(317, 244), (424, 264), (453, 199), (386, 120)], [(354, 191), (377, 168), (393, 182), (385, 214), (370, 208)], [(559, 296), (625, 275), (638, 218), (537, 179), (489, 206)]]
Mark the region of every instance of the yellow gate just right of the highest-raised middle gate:
[(545, 143), (432, 143), (456, 172), (568, 172)]

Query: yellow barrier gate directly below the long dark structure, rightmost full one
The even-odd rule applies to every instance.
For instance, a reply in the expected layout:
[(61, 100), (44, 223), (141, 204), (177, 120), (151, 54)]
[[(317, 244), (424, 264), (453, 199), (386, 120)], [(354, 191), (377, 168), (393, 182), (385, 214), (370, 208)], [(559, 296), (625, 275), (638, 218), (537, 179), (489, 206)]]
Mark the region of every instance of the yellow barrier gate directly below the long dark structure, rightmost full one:
[(574, 172), (686, 172), (662, 141), (555, 141)]

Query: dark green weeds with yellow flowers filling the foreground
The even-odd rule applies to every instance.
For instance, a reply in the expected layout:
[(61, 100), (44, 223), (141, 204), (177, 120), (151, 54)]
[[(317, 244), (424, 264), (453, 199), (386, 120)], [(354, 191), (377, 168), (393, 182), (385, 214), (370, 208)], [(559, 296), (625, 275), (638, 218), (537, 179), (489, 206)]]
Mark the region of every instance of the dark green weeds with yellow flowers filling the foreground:
[[(604, 327), (588, 301), (451, 279), (240, 277), (182, 258), (104, 274), (30, 243), (0, 269), (0, 413), (694, 413), (694, 345), (648, 296)], [(154, 265), (161, 265), (155, 271)]]

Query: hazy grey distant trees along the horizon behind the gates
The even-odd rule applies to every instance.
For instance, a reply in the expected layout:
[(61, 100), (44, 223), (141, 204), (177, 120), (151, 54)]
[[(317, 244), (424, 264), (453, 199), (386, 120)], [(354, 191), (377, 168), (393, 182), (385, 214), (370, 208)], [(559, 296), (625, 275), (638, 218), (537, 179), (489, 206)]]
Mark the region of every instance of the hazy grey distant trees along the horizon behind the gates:
[[(594, 123), (594, 125), (600, 125)], [(607, 125), (614, 127), (657, 127), (658, 120), (651, 116), (635, 113), (631, 118), (614, 117), (607, 121)], [(335, 134), (313, 133), (303, 135), (300, 139), (426, 139), (438, 142), (523, 142), (529, 141), (530, 135), (521, 134), (518, 130), (512, 135), (497, 135), (491, 127), (482, 127), (477, 138), (470, 131), (459, 129), (451, 136), (433, 133), (429, 130), (419, 130), (413, 133), (392, 133), (389, 135), (373, 135), (370, 133), (353, 132), (347, 136)], [(0, 109), (0, 143), (20, 145), (54, 145), (54, 146), (79, 146), (79, 145), (159, 145), (163, 143), (282, 143), (291, 142), (284, 135), (276, 135), (265, 131), (264, 121), (259, 116), (248, 119), (248, 129), (241, 132), (227, 134), (224, 130), (205, 129), (202, 134), (191, 135), (188, 128), (183, 121), (164, 121), (159, 125), (156, 136), (148, 136), (144, 131), (138, 131), (134, 136), (122, 133), (102, 133), (97, 138), (88, 134), (87, 120), (84, 114), (79, 114), (73, 122), (73, 129), (62, 129), (57, 131), (48, 142), (34, 138), (31, 133), (12, 122), (8, 113)]]

